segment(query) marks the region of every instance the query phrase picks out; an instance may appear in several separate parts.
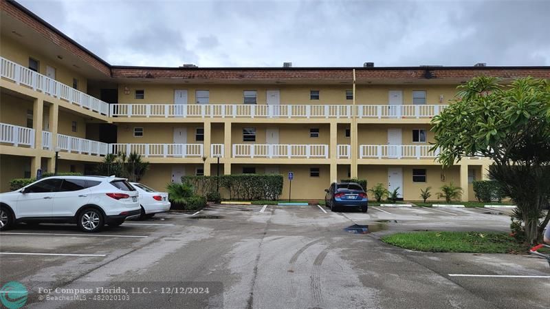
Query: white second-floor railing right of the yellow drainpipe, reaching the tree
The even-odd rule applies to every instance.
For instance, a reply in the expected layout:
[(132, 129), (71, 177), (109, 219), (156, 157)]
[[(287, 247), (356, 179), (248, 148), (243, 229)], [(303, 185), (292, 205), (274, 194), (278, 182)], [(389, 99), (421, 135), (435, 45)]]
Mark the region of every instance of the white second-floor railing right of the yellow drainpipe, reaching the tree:
[(430, 151), (431, 148), (430, 145), (360, 145), (359, 158), (435, 158), (439, 151)]

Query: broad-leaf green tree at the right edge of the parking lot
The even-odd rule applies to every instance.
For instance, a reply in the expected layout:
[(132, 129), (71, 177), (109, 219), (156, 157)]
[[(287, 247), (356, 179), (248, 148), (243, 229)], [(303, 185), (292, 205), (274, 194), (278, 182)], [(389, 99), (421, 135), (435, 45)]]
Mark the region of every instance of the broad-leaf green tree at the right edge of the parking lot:
[(432, 119), (438, 160), (448, 167), (464, 157), (491, 158), (489, 177), (518, 205), (527, 240), (537, 242), (550, 218), (539, 222), (550, 198), (550, 82), (527, 77), (499, 85), (478, 76), (458, 89)]

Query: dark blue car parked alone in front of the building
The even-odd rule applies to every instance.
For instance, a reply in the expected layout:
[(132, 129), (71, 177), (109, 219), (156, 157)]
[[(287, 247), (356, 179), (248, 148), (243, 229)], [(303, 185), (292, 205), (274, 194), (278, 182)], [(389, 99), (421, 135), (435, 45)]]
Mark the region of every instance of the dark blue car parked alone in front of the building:
[(369, 198), (364, 189), (355, 182), (334, 182), (325, 189), (325, 204), (331, 211), (338, 209), (359, 208), (366, 213), (369, 210)]

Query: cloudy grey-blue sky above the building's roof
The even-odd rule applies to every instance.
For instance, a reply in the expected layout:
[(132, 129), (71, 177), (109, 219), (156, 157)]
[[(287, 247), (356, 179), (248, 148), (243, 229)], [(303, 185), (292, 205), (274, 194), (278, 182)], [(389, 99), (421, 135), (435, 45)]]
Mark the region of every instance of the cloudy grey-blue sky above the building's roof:
[(113, 65), (550, 65), (550, 1), (19, 0)]

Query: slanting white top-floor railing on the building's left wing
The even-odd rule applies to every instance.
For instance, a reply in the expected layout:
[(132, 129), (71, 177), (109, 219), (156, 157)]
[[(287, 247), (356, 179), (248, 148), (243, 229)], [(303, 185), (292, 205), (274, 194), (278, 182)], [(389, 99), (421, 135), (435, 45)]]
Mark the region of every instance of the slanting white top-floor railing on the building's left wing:
[(99, 114), (109, 114), (109, 103), (105, 103), (98, 98), (89, 96), (73, 87), (59, 83), (52, 78), (36, 73), (3, 57), (0, 57), (0, 76), (10, 81), (14, 81), (17, 84), (25, 85), (49, 96), (61, 98), (69, 103), (74, 103)]

